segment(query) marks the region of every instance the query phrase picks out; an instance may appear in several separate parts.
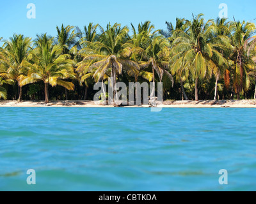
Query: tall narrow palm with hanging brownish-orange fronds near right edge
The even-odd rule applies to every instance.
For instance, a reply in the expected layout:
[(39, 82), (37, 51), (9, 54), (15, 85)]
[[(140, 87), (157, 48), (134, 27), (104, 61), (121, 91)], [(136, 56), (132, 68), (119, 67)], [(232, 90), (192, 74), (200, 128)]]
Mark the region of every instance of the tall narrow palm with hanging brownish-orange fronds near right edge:
[(236, 20), (232, 22), (232, 54), (230, 59), (234, 62), (234, 88), (237, 93), (237, 99), (240, 98), (240, 92), (248, 90), (250, 86), (250, 79), (246, 69), (253, 66), (252, 59), (247, 56), (246, 43), (252, 37), (255, 31), (255, 24), (252, 22), (240, 22)]

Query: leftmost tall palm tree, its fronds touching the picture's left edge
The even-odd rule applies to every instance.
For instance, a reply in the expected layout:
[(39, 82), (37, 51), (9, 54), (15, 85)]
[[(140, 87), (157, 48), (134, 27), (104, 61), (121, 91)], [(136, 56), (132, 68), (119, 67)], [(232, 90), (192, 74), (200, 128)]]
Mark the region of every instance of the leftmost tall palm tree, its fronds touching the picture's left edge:
[(6, 79), (13, 79), (19, 87), (19, 99), (22, 101), (22, 80), (26, 77), (26, 62), (31, 49), (31, 38), (24, 38), (22, 34), (13, 34), (9, 41), (4, 41), (4, 48), (1, 48), (0, 76)]

